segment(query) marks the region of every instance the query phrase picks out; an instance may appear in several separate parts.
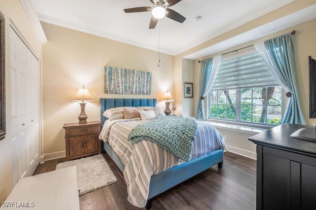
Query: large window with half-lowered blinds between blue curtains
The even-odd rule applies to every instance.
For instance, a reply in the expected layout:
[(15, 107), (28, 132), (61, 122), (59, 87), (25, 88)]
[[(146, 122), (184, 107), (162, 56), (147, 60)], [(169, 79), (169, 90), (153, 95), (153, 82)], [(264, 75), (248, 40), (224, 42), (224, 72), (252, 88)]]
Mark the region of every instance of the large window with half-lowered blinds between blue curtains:
[(222, 59), (208, 95), (209, 118), (277, 125), (282, 119), (282, 88), (255, 51)]

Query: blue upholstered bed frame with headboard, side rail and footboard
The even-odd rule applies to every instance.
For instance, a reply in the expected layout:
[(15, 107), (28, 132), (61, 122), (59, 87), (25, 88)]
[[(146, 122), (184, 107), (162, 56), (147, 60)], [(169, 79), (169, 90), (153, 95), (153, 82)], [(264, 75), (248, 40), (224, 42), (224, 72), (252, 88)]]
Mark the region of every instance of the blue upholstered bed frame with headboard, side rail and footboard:
[[(105, 110), (113, 107), (122, 107), (122, 106), (151, 106), (156, 107), (157, 106), (157, 100), (156, 99), (100, 99), (100, 110), (101, 110), (101, 123), (102, 125), (106, 121), (106, 117), (103, 116), (103, 113)], [(215, 129), (216, 130), (216, 129)], [(221, 137), (220, 134), (217, 134)], [(158, 194), (172, 188), (173, 186), (176, 186), (177, 184), (193, 177), (194, 175), (197, 175), (204, 170), (214, 166), (218, 165), (218, 168), (222, 168), (223, 166), (223, 148), (225, 146), (224, 140), (221, 137), (220, 140), (221, 146), (217, 148), (216, 150), (213, 150), (211, 152), (207, 152), (206, 154), (203, 154), (199, 157), (196, 157), (188, 162), (182, 161), (180, 165), (176, 165), (172, 168), (169, 168), (165, 171), (159, 172), (158, 174), (152, 175), (150, 177), (149, 182), (149, 191), (148, 191), (148, 197), (146, 202), (146, 208), (151, 208), (151, 199)], [(115, 152), (115, 149), (113, 149), (108, 141), (102, 141), (103, 142), (103, 148), (107, 152), (107, 154), (111, 157), (111, 159), (114, 161), (114, 163), (118, 166), (119, 170), (123, 172), (126, 165), (126, 160), (121, 160), (119, 156), (121, 156), (119, 153), (117, 154)], [(125, 163), (125, 165), (124, 165)], [(127, 170), (126, 170), (127, 171)], [(125, 174), (124, 174), (125, 177)], [(126, 178), (125, 178), (126, 181)], [(129, 187), (129, 183), (126, 183), (127, 188)], [(127, 190), (128, 191), (128, 190)], [(131, 201), (130, 201), (131, 202)], [(133, 203), (132, 203), (133, 204)], [(138, 204), (134, 206), (138, 207), (144, 207), (144, 204)]]

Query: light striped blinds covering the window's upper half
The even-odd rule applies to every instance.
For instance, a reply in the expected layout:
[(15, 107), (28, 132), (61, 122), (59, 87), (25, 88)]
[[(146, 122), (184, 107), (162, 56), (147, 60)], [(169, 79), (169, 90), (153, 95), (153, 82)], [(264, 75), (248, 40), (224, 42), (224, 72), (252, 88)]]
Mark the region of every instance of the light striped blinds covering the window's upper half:
[(255, 49), (222, 60), (211, 90), (279, 86)]

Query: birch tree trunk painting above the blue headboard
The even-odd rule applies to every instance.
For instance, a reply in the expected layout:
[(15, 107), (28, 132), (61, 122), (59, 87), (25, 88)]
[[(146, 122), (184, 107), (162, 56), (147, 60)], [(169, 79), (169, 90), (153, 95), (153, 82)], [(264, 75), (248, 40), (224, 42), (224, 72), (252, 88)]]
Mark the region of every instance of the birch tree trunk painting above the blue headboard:
[(151, 95), (152, 73), (116, 67), (105, 67), (104, 93)]

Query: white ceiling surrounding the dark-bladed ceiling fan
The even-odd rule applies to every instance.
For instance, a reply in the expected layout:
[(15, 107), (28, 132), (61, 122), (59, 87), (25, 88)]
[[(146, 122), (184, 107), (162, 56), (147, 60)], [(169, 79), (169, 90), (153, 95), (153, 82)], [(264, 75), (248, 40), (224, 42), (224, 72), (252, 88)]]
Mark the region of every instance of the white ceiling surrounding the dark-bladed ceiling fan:
[[(163, 18), (151, 30), (151, 12), (123, 11), (124, 8), (152, 6), (150, 0), (32, 0), (32, 4), (40, 21), (177, 55), (291, 1), (293, 0), (182, 0), (170, 8), (187, 18), (184, 23)], [(315, 16), (314, 13), (312, 12), (312, 16)], [(197, 21), (197, 16), (202, 16), (202, 19)], [(284, 19), (280, 23), (290, 25), (293, 18), (289, 20)], [(266, 32), (271, 31), (270, 27), (276, 30), (275, 24), (263, 29)], [(258, 29), (253, 33), (258, 31), (262, 34), (262, 30)], [(251, 40), (254, 35), (250, 32), (247, 37)], [(244, 42), (249, 39), (242, 37)], [(235, 44), (232, 40), (226, 43), (227, 46), (232, 44)], [(225, 43), (220, 45), (226, 46)], [(210, 54), (205, 49), (187, 58), (195, 59), (207, 53)]]

